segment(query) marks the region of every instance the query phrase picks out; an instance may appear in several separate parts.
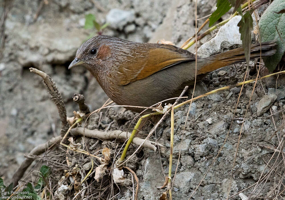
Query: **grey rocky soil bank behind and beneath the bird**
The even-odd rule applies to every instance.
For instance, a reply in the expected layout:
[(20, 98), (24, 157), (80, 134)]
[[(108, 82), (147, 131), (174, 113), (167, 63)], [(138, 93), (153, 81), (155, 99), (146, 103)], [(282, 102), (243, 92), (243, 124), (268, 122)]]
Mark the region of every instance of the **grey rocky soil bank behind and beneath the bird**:
[[(5, 49), (0, 61), (0, 176), (6, 185), (24, 160), (23, 155), (36, 145), (57, 136), (60, 131), (56, 106), (49, 99), (40, 77), (30, 73), (29, 67), (46, 72), (56, 82), (66, 103), (68, 116), (72, 116), (72, 112), (78, 109), (71, 98), (74, 93), (84, 94), (91, 110), (101, 107), (108, 99), (85, 69), (67, 69), (77, 48), (90, 34), (95, 33), (94, 30), (84, 29), (86, 14), (94, 14), (99, 23), (110, 24), (103, 34), (131, 41), (157, 42), (165, 39), (180, 46), (195, 32), (195, 2), (189, 3), (186, 0), (54, 0), (48, 1), (34, 20), (40, 2), (13, 1), (13, 7), (5, 21)], [(3, 5), (0, 10), (2, 14), (5, 11), (4, 2), (0, 4)], [(198, 18), (208, 15), (214, 9), (215, 2), (198, 1)], [(258, 13), (261, 14), (263, 10), (264, 7), (261, 7)], [(233, 27), (238, 21), (238, 17), (232, 19), (228, 27)], [(198, 26), (203, 22), (203, 19), (199, 20)], [(220, 53), (241, 44), (237, 27), (229, 33), (227, 31), (227, 28), (221, 30), (214, 40), (202, 45), (198, 55)], [(201, 43), (209, 37), (211, 35)], [(255, 38), (253, 35), (253, 41)], [(213, 46), (215, 48), (211, 48)], [(193, 49), (191, 47), (189, 50), (193, 52)], [(253, 70), (249, 79), (256, 77), (253, 62), (251, 65)], [(194, 96), (243, 81), (245, 69), (245, 65), (229, 66), (207, 75), (196, 85)], [(262, 72), (266, 73), (266, 70)], [(185, 131), (183, 129), (189, 105), (175, 111), (173, 174), (177, 163), (178, 169), (172, 190), (174, 199), (188, 199), (205, 174), (192, 198), (225, 199), (232, 170), (234, 176), (230, 195), (258, 181), (261, 173), (268, 169), (266, 163), (272, 155), (272, 151), (264, 146), (275, 149), (280, 140), (277, 136), (271, 139), (271, 136), (283, 121), (281, 111), (285, 108), (285, 77), (279, 76), (277, 82), (276, 79), (275, 76), (258, 81), (247, 113), (253, 84), (246, 85), (242, 90), (235, 116), (233, 113), (241, 87), (221, 91), (192, 103)], [(190, 96), (192, 91), (193, 88), (190, 88)], [(104, 110), (103, 113), (100, 121), (100, 114), (94, 114), (87, 128), (124, 130), (135, 117), (135, 113), (122, 109)], [(150, 119), (142, 127), (140, 135), (147, 135), (154, 122), (155, 119)], [(240, 131), (239, 150), (235, 158)], [(143, 149), (127, 163), (140, 181), (138, 199), (159, 199), (166, 191), (157, 187), (163, 185), (168, 174), (170, 117), (166, 117), (150, 140), (157, 140), (167, 150), (158, 153)], [(89, 145), (95, 143), (92, 139)], [(100, 149), (105, 144), (99, 142), (97, 145), (96, 149)], [(222, 146), (223, 150), (210, 167)], [(127, 180), (129, 181), (120, 186), (121, 192), (116, 196), (117, 199), (132, 199), (130, 175)], [(270, 181), (263, 188), (258, 185), (256, 190), (261, 189), (259, 197), (264, 197), (271, 191)], [(251, 191), (246, 190), (243, 194), (249, 195)], [(239, 195), (233, 198), (240, 199)]]

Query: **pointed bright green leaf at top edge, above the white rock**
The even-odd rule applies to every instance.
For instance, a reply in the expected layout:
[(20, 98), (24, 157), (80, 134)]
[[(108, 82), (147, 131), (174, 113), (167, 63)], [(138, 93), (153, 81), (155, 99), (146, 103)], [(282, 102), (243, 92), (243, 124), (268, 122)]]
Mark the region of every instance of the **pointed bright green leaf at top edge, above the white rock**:
[(209, 27), (212, 26), (218, 19), (221, 18), (229, 9), (231, 5), (228, 0), (218, 0), (217, 9), (209, 17)]

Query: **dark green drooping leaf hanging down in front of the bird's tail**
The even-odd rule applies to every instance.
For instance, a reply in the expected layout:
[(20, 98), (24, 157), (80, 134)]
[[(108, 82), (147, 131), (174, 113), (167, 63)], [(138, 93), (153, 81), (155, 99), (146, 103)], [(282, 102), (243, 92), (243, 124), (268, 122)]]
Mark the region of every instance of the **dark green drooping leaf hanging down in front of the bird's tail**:
[(239, 26), (239, 32), (241, 33), (241, 40), (243, 43), (243, 49), (245, 50), (245, 59), (247, 65), (250, 60), (250, 49), (251, 49), (251, 31), (253, 30), (253, 19), (251, 17), (252, 11), (247, 11), (241, 16), (241, 21), (237, 24)]

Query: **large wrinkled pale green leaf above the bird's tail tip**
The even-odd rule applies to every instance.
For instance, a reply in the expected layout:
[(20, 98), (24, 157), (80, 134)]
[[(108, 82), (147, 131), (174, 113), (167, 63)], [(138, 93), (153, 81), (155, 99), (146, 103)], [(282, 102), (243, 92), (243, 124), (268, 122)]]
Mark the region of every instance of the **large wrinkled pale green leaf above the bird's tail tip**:
[[(263, 58), (265, 66), (269, 71), (273, 71), (276, 68), (285, 52), (285, 13), (278, 13), (280, 10), (284, 9), (284, 7), (284, 0), (272, 1), (258, 23), (261, 42), (276, 40), (277, 43), (276, 53), (272, 56)], [(275, 26), (277, 27), (282, 40), (280, 39)]]

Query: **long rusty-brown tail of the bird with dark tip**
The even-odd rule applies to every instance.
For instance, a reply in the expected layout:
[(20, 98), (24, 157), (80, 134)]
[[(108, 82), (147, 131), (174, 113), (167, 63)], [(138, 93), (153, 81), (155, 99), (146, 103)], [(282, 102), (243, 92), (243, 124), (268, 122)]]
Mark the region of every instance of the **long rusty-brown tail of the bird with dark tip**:
[[(275, 41), (263, 42), (261, 43), (261, 48), (260, 43), (251, 45), (250, 59), (259, 58), (260, 49), (261, 57), (273, 55), (276, 52), (275, 46)], [(200, 58), (198, 61), (201, 61), (199, 63), (206, 63), (206, 65), (198, 65), (198, 74), (204, 74), (221, 67), (245, 61), (245, 51), (243, 47), (239, 47), (211, 57)]]

